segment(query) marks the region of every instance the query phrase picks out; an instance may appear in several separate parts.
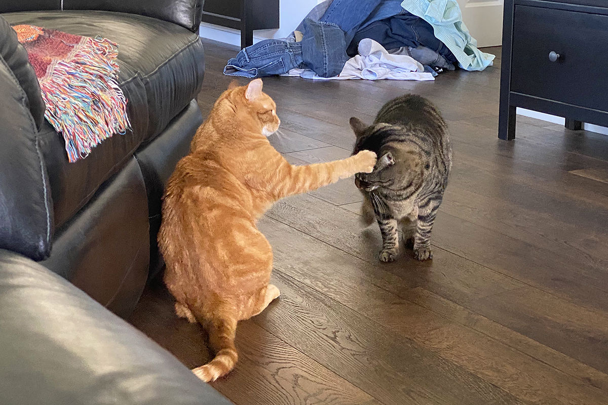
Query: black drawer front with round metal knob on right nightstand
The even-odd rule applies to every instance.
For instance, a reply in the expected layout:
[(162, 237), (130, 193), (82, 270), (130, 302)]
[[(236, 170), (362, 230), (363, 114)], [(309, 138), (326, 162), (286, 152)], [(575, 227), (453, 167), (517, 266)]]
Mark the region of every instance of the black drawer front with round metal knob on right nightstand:
[(608, 15), (516, 5), (511, 92), (608, 111)]

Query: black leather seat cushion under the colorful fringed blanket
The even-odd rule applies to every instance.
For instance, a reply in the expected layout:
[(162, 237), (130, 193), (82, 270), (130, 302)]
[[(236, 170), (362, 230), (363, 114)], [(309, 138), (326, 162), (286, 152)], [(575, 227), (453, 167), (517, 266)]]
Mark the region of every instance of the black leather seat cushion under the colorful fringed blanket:
[(49, 11), (2, 15), (10, 24), (32, 24), (119, 44), (120, 86), (128, 98), (133, 131), (114, 135), (76, 163), (67, 163), (63, 138), (43, 126), (40, 146), (49, 173), (55, 224), (61, 226), (88, 202), (142, 143), (159, 135), (196, 97), (204, 60), (199, 36), (159, 19), (114, 12)]

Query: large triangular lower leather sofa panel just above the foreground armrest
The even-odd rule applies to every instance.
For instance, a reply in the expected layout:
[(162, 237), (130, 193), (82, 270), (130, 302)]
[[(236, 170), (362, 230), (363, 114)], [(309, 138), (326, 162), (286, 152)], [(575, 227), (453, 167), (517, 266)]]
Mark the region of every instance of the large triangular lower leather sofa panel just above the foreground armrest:
[(125, 167), (55, 231), (41, 262), (119, 316), (128, 316), (145, 286), (150, 264), (147, 194), (131, 156)]

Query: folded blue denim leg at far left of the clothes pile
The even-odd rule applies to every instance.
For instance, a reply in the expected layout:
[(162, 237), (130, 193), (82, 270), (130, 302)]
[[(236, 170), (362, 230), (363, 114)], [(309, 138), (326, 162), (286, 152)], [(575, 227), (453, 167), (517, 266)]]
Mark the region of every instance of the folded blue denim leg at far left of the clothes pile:
[(264, 77), (280, 75), (304, 66), (302, 43), (285, 39), (266, 39), (241, 49), (224, 67), (224, 75)]

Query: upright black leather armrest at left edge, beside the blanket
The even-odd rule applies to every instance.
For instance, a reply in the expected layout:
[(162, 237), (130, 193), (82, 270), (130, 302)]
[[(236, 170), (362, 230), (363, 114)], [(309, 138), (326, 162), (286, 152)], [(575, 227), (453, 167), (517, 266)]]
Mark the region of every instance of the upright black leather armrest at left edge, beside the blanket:
[(49, 183), (26, 92), (0, 56), (0, 248), (31, 259), (49, 254)]

